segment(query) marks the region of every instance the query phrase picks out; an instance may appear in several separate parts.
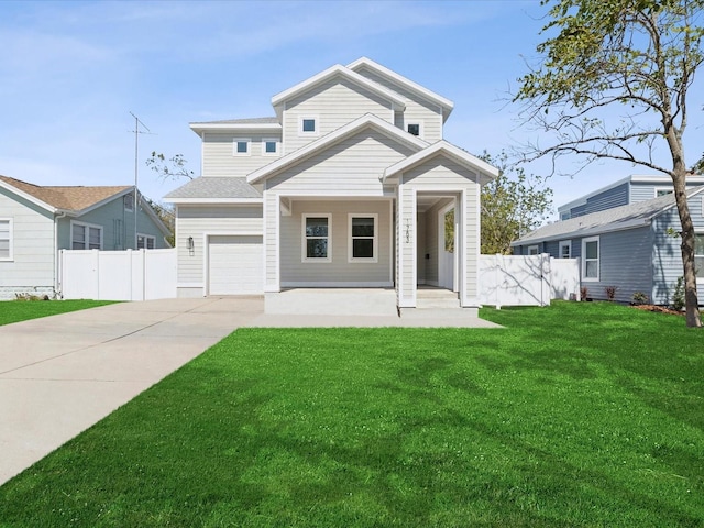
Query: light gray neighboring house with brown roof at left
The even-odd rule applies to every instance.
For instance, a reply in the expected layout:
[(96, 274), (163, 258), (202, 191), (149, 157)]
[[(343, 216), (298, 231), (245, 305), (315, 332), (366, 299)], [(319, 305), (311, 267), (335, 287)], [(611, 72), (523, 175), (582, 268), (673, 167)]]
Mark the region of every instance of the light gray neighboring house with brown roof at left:
[(135, 216), (134, 186), (38, 186), (0, 176), (0, 298), (54, 295), (59, 250), (161, 249), (168, 234), (142, 198)]

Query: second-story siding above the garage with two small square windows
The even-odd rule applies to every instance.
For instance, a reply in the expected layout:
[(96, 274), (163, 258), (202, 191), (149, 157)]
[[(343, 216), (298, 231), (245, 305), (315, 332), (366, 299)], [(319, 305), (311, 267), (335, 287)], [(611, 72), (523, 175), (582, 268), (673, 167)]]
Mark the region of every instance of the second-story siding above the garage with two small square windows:
[[(234, 155), (234, 139), (249, 139), (250, 154)], [(262, 155), (263, 140), (278, 139), (279, 152), (280, 132), (249, 132), (246, 130), (238, 132), (207, 132), (202, 134), (202, 176), (238, 176), (244, 177), (248, 174), (263, 167), (274, 161), (279, 155)]]

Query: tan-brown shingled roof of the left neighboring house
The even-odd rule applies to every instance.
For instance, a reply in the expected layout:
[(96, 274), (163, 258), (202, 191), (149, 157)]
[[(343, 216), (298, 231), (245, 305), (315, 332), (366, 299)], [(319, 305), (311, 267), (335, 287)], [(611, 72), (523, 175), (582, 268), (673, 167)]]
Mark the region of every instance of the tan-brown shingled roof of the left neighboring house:
[(63, 210), (74, 213), (86, 212), (120, 195), (127, 195), (134, 188), (130, 185), (96, 187), (40, 186), (9, 176), (0, 176), (0, 185), (15, 194), (20, 194), (46, 210), (53, 212)]

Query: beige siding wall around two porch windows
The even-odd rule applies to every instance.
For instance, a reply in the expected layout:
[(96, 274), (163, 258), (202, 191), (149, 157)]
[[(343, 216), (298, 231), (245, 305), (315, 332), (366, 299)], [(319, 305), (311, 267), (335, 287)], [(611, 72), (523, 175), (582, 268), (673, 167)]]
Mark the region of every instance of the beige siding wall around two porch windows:
[[(331, 215), (331, 262), (302, 262), (302, 215)], [(349, 216), (377, 215), (377, 262), (349, 262)], [(295, 201), (280, 218), (282, 286), (378, 287), (393, 285), (392, 218), (388, 200)]]

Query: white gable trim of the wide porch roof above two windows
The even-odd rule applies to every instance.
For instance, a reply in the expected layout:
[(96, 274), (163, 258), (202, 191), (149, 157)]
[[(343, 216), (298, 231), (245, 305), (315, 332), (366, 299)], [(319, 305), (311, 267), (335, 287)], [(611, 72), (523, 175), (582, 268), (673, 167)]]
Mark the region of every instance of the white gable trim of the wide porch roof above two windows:
[(330, 132), (322, 138), (308, 143), (307, 145), (298, 148), (297, 151), (292, 152), (290, 154), (279, 157), (273, 163), (265, 165), (264, 167), (254, 170), (249, 174), (246, 177), (248, 183), (254, 184), (262, 179), (265, 179), (270, 176), (273, 176), (285, 168), (288, 168), (315, 154), (327, 148), (328, 146), (342, 141), (345, 138), (350, 138), (351, 135), (356, 134), (361, 130), (364, 129), (375, 129), (382, 132), (383, 134), (395, 139), (402, 143), (406, 143), (407, 145), (413, 146), (414, 148), (421, 150), (428, 146), (428, 143), (420, 138), (409, 134), (408, 132), (403, 131), (402, 129), (394, 127), (392, 123), (384, 121), (383, 119), (372, 114), (365, 113), (361, 118), (355, 119), (354, 121), (340, 127), (334, 132)]

